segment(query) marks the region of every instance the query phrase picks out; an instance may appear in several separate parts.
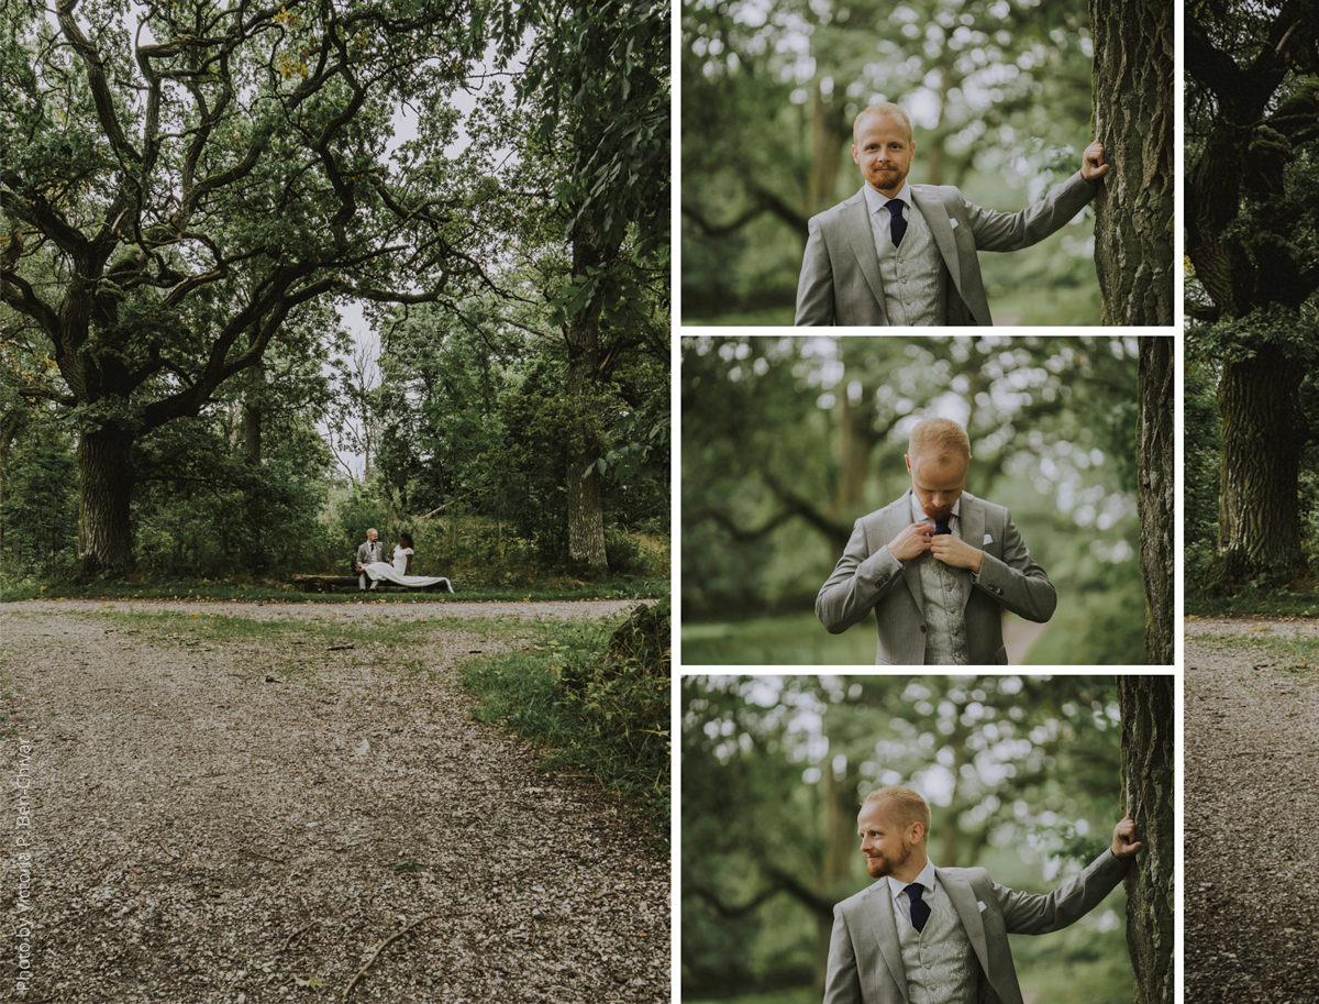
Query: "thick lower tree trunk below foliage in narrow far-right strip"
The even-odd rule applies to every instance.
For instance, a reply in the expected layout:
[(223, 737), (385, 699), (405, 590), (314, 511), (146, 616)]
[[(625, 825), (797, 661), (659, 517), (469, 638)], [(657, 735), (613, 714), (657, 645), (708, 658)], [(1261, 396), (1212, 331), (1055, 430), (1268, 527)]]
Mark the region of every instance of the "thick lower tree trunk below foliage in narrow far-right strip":
[(1299, 471), (1304, 367), (1275, 346), (1224, 363), (1219, 384), (1223, 475), (1219, 545), (1210, 577), (1242, 584), (1261, 575), (1289, 582), (1306, 571), (1301, 550)]

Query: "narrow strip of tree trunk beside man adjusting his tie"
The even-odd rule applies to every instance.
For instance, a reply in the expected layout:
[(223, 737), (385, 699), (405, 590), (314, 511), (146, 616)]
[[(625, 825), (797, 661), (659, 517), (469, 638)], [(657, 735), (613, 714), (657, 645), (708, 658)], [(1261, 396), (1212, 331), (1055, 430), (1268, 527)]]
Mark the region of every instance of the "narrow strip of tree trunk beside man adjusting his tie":
[(1141, 578), (1145, 580), (1145, 654), (1150, 665), (1173, 665), (1174, 483), (1173, 420), (1175, 352), (1169, 336), (1141, 338), (1137, 377), (1138, 500), (1141, 516)]

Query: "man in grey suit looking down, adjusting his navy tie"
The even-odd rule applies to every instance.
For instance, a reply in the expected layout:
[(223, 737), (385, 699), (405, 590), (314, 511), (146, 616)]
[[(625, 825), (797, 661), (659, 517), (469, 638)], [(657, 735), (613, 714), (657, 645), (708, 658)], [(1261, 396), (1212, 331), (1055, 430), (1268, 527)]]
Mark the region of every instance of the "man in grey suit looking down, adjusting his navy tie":
[(964, 491), (966, 429), (926, 418), (905, 459), (910, 491), (856, 521), (815, 616), (839, 635), (873, 610), (876, 665), (1006, 665), (1002, 611), (1043, 623), (1058, 594), (1008, 509)]

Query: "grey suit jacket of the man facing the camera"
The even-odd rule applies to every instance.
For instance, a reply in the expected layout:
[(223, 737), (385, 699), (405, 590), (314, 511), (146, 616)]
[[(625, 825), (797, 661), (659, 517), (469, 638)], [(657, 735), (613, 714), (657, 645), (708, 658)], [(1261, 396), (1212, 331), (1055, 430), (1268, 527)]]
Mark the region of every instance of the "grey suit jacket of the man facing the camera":
[[(911, 198), (948, 269), (947, 323), (993, 325), (977, 251), (1018, 251), (1039, 243), (1080, 212), (1095, 191), (1096, 186), (1076, 172), (1034, 206), (995, 212), (971, 204), (951, 185), (913, 185)], [(864, 187), (813, 216), (809, 228), (794, 323), (888, 326)]]

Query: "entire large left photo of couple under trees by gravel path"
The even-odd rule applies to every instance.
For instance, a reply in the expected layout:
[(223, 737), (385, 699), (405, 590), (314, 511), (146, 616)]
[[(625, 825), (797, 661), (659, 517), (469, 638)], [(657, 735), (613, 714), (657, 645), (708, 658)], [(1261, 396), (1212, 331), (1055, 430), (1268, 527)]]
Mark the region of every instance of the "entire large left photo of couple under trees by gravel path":
[(0, 996), (667, 1000), (667, 5), (4, 11)]

